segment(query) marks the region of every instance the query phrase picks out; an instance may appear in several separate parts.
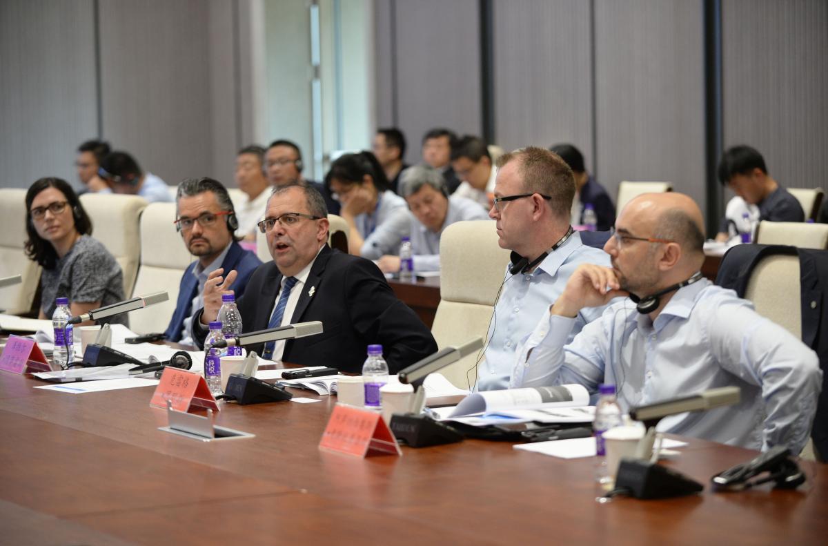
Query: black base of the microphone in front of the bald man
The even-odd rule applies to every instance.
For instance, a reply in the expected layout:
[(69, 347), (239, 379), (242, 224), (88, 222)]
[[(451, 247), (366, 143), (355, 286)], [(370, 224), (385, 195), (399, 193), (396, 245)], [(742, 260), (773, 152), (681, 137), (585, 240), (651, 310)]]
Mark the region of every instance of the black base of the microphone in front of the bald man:
[(703, 490), (698, 481), (650, 461), (623, 457), (609, 495), (631, 495), (636, 499), (668, 499)]

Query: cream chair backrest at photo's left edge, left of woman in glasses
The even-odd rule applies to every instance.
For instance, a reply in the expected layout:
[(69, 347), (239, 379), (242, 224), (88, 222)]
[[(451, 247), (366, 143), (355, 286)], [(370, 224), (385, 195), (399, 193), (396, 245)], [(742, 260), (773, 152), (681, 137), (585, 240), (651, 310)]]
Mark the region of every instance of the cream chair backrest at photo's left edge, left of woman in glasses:
[(0, 188), (0, 277), (22, 275), (23, 282), (0, 288), (0, 308), (20, 314), (31, 309), (41, 267), (26, 257), (26, 189)]

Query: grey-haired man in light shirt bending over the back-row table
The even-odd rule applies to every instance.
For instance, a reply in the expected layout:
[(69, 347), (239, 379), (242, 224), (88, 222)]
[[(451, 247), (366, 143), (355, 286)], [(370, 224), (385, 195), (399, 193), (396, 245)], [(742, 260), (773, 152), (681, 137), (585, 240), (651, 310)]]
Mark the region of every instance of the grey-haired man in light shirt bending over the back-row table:
[[(415, 271), (440, 271), (440, 236), (445, 228), (462, 220), (489, 218), (474, 201), (450, 196), (440, 171), (426, 165), (408, 167), (402, 173), (400, 191), (412, 213), (407, 233)], [(396, 273), (400, 257), (385, 255), (378, 265), (385, 273)]]

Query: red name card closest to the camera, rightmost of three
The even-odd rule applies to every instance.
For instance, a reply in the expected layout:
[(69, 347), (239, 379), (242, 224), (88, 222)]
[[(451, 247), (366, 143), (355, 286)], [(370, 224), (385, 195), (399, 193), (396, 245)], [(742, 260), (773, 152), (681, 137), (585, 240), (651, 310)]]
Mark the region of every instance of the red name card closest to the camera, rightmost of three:
[(330, 414), (319, 447), (357, 457), (402, 455), (397, 438), (382, 415), (344, 404), (337, 404), (334, 413)]

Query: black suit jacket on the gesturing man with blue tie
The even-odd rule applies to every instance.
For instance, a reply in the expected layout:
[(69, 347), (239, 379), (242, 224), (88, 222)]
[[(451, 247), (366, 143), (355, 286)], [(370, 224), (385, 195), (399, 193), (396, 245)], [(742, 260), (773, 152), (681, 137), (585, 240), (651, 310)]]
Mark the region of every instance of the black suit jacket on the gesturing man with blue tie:
[[(276, 263), (253, 273), (248, 289), (238, 299), (243, 331), (267, 328), (282, 283)], [(299, 365), (325, 365), (345, 372), (362, 371), (369, 344), (382, 344), (392, 374), (436, 352), (426, 325), (394, 295), (373, 262), (325, 247), (310, 268), (301, 288), (291, 323), (322, 321), (324, 332), (286, 341), (282, 360)], [(199, 312), (194, 320), (200, 320)], [(194, 328), (195, 341), (204, 345), (207, 331)], [(248, 350), (262, 354), (262, 345)]]

